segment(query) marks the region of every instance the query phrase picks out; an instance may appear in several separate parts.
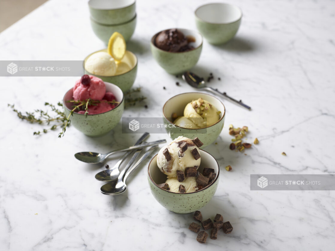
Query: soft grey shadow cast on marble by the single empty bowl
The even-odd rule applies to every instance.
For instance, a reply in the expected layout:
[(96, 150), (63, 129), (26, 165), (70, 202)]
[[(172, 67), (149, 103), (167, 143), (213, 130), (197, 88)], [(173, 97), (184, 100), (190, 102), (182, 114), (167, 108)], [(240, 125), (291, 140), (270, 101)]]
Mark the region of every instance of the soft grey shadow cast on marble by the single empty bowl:
[(253, 43), (251, 39), (240, 36), (234, 37), (226, 44), (212, 46), (230, 52), (252, 52), (257, 50), (257, 46), (255, 45), (255, 43)]

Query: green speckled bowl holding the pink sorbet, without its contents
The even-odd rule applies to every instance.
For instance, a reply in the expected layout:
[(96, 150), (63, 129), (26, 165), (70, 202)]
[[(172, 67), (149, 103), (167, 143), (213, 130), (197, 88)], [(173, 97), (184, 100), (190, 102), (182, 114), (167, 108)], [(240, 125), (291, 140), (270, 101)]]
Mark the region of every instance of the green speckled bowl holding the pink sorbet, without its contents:
[[(70, 117), (71, 125), (87, 136), (97, 137), (108, 133), (119, 123), (122, 117), (124, 110), (124, 96), (122, 90), (111, 83), (105, 82), (105, 84), (106, 91), (112, 92), (117, 101), (120, 101), (118, 106), (113, 110), (100, 114), (87, 115), (87, 117), (85, 117), (84, 114), (74, 112), (73, 116)], [(66, 116), (68, 116), (71, 111), (71, 103), (66, 102), (70, 99), (73, 99), (73, 88), (68, 90), (63, 98), (63, 107)]]

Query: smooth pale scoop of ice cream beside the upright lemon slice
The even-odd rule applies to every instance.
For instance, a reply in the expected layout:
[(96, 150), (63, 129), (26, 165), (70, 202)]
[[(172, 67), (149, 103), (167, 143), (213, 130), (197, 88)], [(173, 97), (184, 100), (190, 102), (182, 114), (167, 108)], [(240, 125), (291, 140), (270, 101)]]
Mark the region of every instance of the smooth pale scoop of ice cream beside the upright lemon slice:
[(114, 76), (116, 64), (114, 58), (107, 52), (96, 52), (86, 60), (85, 69), (95, 75)]

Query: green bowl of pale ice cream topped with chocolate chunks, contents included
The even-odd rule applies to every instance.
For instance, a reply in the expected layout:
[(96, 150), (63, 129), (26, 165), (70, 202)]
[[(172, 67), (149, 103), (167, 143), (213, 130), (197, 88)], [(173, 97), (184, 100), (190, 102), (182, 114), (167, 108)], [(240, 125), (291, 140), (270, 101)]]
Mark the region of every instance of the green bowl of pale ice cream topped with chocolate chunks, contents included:
[(167, 210), (187, 214), (205, 206), (219, 183), (215, 158), (195, 138), (178, 137), (160, 149), (148, 166), (153, 197)]

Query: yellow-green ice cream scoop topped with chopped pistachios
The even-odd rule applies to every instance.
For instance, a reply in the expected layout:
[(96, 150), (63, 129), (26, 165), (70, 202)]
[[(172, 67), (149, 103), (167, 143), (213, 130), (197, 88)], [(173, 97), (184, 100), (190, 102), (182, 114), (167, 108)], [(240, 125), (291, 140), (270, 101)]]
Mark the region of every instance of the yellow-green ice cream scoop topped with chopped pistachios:
[(184, 116), (192, 120), (198, 127), (209, 127), (220, 119), (220, 113), (208, 101), (199, 98), (188, 103)]

